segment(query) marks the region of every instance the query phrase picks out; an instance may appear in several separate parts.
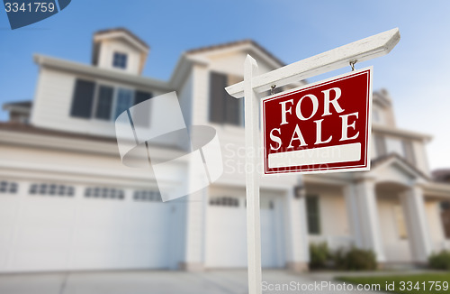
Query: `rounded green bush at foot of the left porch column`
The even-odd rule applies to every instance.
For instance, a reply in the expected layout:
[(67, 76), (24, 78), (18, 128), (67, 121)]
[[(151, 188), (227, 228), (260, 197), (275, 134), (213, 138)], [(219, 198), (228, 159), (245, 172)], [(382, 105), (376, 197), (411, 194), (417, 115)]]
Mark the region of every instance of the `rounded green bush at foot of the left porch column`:
[(353, 247), (344, 252), (338, 250), (333, 254), (335, 267), (345, 271), (372, 271), (376, 269), (376, 255), (371, 250)]

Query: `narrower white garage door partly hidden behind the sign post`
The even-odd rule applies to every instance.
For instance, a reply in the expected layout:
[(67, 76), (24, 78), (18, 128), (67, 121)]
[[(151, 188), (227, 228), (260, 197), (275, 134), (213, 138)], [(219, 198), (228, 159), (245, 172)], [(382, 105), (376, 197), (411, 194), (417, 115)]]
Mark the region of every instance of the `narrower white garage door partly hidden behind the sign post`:
[[(206, 258), (208, 268), (247, 267), (246, 200), (240, 192), (211, 195), (207, 209)], [(233, 196), (218, 196), (228, 194)], [(284, 233), (282, 202), (279, 198), (261, 197), (262, 266), (284, 267)]]

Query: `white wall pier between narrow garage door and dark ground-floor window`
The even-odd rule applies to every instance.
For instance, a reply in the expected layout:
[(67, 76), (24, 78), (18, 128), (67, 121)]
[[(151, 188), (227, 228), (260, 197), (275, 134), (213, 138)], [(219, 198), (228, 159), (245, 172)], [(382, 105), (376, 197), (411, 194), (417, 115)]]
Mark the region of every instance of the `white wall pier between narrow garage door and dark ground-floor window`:
[(293, 188), (286, 190), (286, 261), (291, 271), (308, 271), (310, 244), (306, 217), (306, 200), (295, 198)]

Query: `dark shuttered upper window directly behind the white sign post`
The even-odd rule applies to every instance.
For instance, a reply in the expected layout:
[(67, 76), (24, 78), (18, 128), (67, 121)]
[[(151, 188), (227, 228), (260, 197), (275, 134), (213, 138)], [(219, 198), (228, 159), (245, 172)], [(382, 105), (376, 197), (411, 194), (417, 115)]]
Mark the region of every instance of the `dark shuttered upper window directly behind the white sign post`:
[(210, 122), (216, 124), (244, 125), (244, 99), (229, 96), (225, 87), (238, 78), (211, 72), (210, 74)]

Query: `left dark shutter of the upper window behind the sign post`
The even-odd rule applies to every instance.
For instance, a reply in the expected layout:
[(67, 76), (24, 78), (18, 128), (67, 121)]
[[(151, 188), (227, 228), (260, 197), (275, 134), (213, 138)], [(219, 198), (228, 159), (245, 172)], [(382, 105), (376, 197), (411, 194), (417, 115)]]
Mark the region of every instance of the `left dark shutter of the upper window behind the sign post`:
[(210, 74), (210, 121), (211, 123), (225, 123), (225, 87), (228, 78), (226, 75), (211, 72)]

